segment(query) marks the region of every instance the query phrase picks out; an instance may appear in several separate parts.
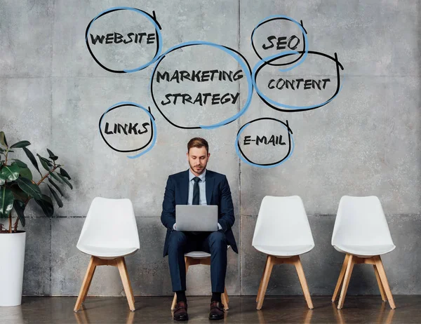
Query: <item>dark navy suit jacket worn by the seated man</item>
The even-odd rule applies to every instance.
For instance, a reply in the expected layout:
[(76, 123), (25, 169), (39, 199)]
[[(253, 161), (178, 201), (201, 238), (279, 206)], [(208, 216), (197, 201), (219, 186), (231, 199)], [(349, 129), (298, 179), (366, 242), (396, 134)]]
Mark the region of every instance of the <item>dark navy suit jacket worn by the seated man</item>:
[[(163, 195), (161, 222), (167, 228), (163, 256), (168, 254), (168, 238), (175, 224), (175, 205), (187, 205), (189, 199), (189, 170), (170, 175)], [(220, 173), (206, 170), (206, 203), (218, 205), (218, 222), (225, 233), (227, 243), (238, 253), (234, 234), (234, 206), (232, 205), (231, 190), (227, 177)]]

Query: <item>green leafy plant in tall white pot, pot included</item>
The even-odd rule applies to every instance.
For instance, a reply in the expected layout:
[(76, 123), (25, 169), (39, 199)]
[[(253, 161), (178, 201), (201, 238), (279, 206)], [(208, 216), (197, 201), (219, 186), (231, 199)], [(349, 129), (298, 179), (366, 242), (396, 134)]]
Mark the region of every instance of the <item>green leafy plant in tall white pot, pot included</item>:
[[(36, 154), (41, 166), (46, 170), (43, 175), (39, 170), (34, 154), (27, 147), (31, 143), (24, 140), (8, 145), (4, 132), (0, 132), (0, 306), (17, 306), (22, 302), (23, 264), (25, 262), (26, 232), (18, 231), (18, 223), (25, 227), (25, 208), (27, 203), (34, 201), (48, 217), (54, 214), (53, 200), (41, 192), (41, 184), (46, 185), (49, 193), (61, 208), (63, 196), (59, 184), (70, 184), (70, 176), (61, 164), (58, 156), (47, 149), (48, 158)], [(22, 149), (38, 171), (40, 180), (36, 182), (26, 163), (11, 158), (15, 149)], [(46, 183), (48, 180), (49, 183)], [(16, 219), (13, 223), (12, 213)]]

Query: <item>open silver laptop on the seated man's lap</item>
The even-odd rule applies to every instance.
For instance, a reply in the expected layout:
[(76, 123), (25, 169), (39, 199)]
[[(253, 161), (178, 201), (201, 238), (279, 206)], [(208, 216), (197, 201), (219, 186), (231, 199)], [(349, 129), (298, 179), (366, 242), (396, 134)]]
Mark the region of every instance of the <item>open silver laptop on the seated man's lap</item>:
[(218, 231), (218, 205), (175, 205), (178, 231)]

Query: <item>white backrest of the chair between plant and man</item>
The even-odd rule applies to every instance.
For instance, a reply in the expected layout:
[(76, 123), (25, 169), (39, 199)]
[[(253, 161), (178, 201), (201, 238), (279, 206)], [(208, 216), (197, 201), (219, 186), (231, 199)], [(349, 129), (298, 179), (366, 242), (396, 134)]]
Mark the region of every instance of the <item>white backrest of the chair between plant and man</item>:
[(77, 245), (80, 243), (104, 248), (140, 248), (130, 199), (95, 197)]

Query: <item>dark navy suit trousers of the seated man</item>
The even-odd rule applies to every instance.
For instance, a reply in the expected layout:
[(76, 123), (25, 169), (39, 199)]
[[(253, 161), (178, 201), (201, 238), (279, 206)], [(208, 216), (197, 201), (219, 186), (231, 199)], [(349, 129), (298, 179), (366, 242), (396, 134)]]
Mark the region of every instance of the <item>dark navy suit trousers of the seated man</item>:
[(210, 253), (212, 292), (224, 292), (227, 273), (227, 239), (223, 231), (193, 233), (173, 230), (168, 243), (168, 264), (173, 291), (186, 290), (185, 253), (204, 251)]

